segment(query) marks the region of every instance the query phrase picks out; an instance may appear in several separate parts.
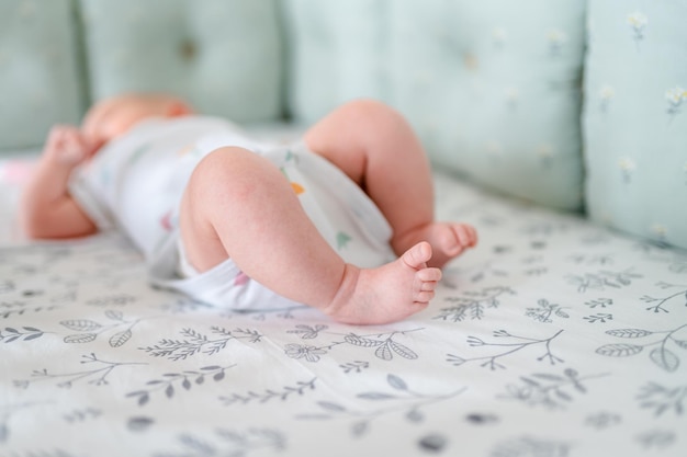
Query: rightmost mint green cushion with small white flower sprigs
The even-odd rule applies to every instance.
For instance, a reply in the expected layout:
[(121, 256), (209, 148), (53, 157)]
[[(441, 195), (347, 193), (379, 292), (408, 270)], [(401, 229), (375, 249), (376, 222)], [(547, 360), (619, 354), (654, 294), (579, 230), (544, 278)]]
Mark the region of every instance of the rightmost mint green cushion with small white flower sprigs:
[(687, 2), (589, 3), (587, 207), (687, 248)]

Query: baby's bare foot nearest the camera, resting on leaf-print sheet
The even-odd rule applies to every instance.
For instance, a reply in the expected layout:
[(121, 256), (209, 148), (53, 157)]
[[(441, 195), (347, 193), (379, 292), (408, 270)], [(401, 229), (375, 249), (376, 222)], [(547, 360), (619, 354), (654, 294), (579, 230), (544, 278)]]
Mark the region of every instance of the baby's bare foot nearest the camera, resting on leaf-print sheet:
[(428, 267), (431, 245), (420, 242), (378, 269), (346, 265), (344, 281), (325, 312), (346, 323), (388, 323), (421, 311), (435, 296), (439, 269)]

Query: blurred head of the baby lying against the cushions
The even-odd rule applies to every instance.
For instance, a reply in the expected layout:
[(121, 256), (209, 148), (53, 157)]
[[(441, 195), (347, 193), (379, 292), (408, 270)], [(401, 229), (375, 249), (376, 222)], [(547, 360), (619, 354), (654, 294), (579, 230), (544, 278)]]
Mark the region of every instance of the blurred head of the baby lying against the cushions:
[(83, 118), (81, 129), (94, 149), (150, 117), (178, 117), (193, 110), (181, 99), (167, 94), (124, 94), (93, 105)]

